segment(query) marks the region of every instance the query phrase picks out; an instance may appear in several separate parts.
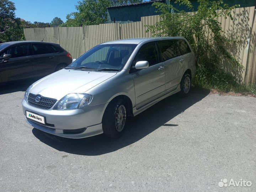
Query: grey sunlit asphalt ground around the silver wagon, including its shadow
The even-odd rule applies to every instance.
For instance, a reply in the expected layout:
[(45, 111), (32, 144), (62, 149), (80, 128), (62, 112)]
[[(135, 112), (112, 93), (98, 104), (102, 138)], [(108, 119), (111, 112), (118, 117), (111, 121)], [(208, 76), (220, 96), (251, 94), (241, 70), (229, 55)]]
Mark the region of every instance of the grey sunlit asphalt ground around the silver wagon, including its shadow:
[[(130, 118), (119, 139), (74, 140), (25, 122), (30, 84), (0, 87), (1, 192), (256, 191), (255, 97), (193, 89)], [(219, 187), (224, 178), (252, 185)]]

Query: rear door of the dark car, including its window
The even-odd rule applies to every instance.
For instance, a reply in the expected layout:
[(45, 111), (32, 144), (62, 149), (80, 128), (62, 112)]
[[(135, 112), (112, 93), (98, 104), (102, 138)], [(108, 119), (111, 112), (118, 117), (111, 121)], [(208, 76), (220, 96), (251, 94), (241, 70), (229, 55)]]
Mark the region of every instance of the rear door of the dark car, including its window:
[(34, 77), (46, 76), (54, 72), (57, 57), (51, 44), (32, 43), (32, 66)]

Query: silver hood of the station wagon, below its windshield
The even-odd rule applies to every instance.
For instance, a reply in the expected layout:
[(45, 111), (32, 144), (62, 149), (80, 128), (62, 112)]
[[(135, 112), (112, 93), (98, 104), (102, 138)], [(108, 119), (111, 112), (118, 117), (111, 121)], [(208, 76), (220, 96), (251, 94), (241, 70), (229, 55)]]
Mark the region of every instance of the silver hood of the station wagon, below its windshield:
[(30, 93), (60, 100), (70, 93), (84, 93), (116, 74), (62, 69), (34, 82)]

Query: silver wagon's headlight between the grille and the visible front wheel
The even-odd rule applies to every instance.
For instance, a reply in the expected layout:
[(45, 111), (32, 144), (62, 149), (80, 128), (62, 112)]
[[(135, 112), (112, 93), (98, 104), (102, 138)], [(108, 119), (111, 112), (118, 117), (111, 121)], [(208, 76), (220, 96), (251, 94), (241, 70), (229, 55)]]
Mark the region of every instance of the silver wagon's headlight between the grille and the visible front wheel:
[(63, 97), (57, 105), (55, 110), (74, 110), (89, 105), (92, 100), (92, 95), (89, 94), (68, 94)]

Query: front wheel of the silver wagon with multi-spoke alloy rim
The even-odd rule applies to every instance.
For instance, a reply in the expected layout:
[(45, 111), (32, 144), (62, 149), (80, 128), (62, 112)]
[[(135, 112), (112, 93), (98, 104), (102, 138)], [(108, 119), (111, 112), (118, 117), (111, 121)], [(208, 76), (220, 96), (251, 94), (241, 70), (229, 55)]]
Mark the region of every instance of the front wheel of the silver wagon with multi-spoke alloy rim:
[[(120, 116), (121, 115), (121, 116)], [(126, 126), (127, 122), (127, 107), (123, 99), (111, 101), (102, 118), (103, 133), (107, 137), (118, 138), (120, 137)]]

